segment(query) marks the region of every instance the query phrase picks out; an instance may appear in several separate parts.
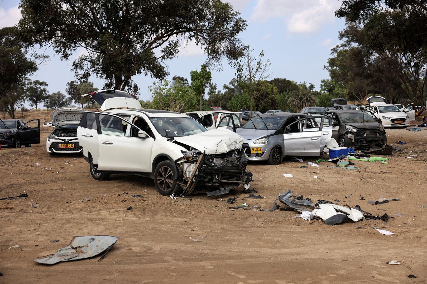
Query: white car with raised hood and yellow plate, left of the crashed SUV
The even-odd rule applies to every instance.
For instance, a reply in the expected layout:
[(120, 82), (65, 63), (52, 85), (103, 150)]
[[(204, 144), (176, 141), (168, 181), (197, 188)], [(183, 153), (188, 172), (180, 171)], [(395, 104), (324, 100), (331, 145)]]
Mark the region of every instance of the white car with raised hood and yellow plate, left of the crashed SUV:
[(52, 112), (52, 123), (55, 128), (46, 140), (46, 151), (49, 155), (58, 153), (79, 153), (83, 147), (77, 139), (77, 126), (85, 109), (65, 106)]

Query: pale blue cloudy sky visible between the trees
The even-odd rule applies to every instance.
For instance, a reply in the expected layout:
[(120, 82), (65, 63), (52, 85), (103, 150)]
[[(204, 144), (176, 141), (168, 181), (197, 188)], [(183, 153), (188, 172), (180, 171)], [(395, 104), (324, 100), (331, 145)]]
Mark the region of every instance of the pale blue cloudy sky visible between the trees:
[[(272, 63), (272, 76), (296, 82), (310, 82), (319, 89), (320, 80), (327, 78), (323, 66), (330, 57), (330, 49), (338, 44), (338, 31), (344, 28), (344, 20), (337, 19), (333, 11), (339, 8), (339, 0), (228, 0), (241, 17), (248, 21), (248, 28), (240, 34), (245, 44), (254, 49), (254, 54), (264, 50)], [(0, 0), (0, 28), (15, 25), (20, 18), (19, 0)], [(80, 51), (82, 52), (82, 51)], [(32, 80), (46, 81), (50, 92), (65, 93), (67, 82), (74, 80), (70, 71), (72, 62), (61, 61), (52, 50), (47, 50), (50, 60), (41, 66)], [(170, 79), (173, 75), (190, 78), (190, 71), (199, 69), (206, 57), (197, 46), (188, 45), (179, 56), (167, 61)], [(226, 61), (221, 72), (212, 72), (212, 81), (222, 89), (235, 77), (235, 70)], [(95, 86), (102, 88), (103, 81), (91, 77)], [(135, 82), (140, 87), (140, 99), (150, 98), (149, 88), (153, 79), (137, 75)]]

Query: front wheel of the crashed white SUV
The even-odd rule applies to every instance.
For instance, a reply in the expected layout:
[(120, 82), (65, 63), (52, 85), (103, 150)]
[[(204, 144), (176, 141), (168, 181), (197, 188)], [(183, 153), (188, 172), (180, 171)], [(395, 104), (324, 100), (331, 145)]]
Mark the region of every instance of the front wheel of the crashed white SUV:
[(162, 161), (154, 170), (154, 184), (157, 191), (164, 196), (178, 193), (180, 186), (176, 182), (178, 171), (171, 161)]

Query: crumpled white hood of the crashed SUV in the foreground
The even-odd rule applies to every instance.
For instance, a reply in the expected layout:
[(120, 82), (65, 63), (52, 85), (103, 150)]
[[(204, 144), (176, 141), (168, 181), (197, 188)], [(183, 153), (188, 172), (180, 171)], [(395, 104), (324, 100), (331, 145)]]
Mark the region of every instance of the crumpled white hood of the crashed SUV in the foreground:
[(175, 137), (175, 141), (193, 147), (206, 154), (223, 154), (243, 145), (243, 138), (224, 128), (211, 129), (191, 136)]

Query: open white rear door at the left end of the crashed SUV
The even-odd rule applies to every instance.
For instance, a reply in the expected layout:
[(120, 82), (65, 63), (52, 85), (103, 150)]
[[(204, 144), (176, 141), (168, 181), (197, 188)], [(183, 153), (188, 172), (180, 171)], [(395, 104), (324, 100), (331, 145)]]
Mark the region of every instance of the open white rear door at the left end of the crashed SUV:
[(89, 153), (94, 160), (94, 164), (98, 164), (98, 125), (97, 112), (85, 112), (77, 127), (77, 139), (79, 145), (83, 147), (83, 155), (89, 157)]

